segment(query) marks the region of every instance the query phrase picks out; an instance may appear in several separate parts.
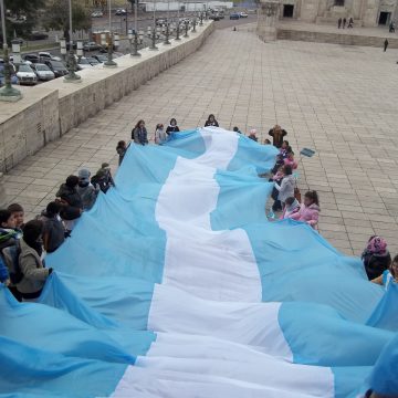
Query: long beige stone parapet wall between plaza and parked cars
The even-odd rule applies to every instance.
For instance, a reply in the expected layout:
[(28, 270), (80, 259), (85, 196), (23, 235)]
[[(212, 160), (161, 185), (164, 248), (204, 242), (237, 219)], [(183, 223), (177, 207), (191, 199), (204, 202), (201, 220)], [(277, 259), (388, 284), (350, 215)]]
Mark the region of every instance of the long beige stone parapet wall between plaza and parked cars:
[(0, 103), (0, 172), (196, 52), (213, 29), (213, 22), (207, 22), (187, 39), (157, 44), (158, 51), (144, 49), (140, 57), (122, 56), (115, 69), (83, 70), (81, 83), (56, 78), (20, 87), (21, 101)]

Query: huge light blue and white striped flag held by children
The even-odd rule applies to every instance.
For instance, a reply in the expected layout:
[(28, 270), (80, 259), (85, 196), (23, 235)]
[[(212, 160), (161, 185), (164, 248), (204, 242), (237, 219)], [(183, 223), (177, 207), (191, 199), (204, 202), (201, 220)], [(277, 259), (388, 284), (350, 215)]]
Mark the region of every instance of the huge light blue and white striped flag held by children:
[(369, 283), (311, 227), (266, 220), (259, 174), (275, 155), (221, 128), (132, 145), (46, 258), (39, 303), (0, 287), (0, 396), (366, 391), (398, 332), (397, 285)]

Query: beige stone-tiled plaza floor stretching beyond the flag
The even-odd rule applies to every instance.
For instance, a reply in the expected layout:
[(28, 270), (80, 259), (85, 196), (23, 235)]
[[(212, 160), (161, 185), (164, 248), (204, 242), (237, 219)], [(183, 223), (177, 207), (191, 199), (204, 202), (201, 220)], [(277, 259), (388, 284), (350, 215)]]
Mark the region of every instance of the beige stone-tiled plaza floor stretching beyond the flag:
[(115, 146), (138, 118), (182, 128), (214, 113), (221, 126), (265, 132), (276, 122), (302, 159), (300, 185), (321, 195), (321, 233), (359, 254), (373, 233), (398, 251), (398, 51), (279, 41), (217, 30), (195, 55), (11, 170), (10, 201), (38, 213), (80, 167), (116, 166)]

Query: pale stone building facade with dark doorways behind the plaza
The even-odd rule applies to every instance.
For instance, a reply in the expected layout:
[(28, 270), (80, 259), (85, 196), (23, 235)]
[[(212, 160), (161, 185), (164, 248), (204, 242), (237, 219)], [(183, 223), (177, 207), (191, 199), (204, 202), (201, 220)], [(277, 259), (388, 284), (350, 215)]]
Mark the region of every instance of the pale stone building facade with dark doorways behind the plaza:
[(388, 25), (398, 19), (398, 0), (281, 0), (280, 19), (336, 23), (353, 17), (356, 27)]

